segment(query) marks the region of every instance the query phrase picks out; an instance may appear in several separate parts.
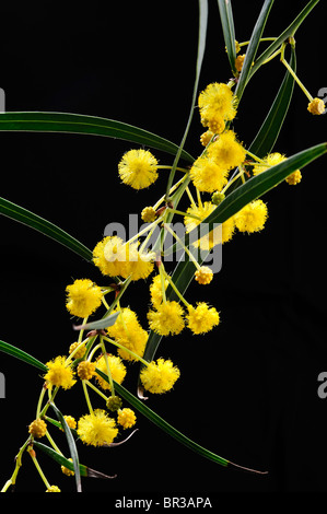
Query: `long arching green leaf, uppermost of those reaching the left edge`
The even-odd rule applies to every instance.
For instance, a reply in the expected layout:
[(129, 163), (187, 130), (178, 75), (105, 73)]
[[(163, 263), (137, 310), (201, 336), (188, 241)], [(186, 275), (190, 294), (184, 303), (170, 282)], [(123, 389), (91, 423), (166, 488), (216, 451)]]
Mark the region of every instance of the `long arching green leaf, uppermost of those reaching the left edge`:
[[(132, 125), (114, 119), (71, 113), (1, 113), (0, 130), (104, 136), (144, 144), (173, 155), (178, 151), (178, 147), (175, 143)], [(188, 162), (194, 162), (194, 157), (185, 151), (182, 152), (180, 156)]]

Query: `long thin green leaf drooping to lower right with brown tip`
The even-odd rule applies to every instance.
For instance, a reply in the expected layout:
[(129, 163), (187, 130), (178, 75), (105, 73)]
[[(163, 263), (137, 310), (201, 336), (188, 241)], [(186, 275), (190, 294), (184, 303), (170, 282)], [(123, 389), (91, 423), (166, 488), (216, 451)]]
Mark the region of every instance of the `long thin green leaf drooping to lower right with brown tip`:
[[(103, 372), (101, 372), (97, 369), (96, 369), (96, 373), (103, 379), (105, 379), (106, 382), (109, 383), (107, 375), (105, 375)], [(214, 463), (220, 464), (221, 466), (224, 466), (224, 467), (234, 466), (234, 467), (245, 469), (242, 466), (238, 466), (238, 465), (235, 465), (235, 464), (231, 463), (226, 458), (220, 457), (219, 455), (214, 454), (213, 452), (210, 452), (209, 449), (205, 448), (203, 446), (200, 446), (198, 443), (195, 443), (189, 437), (187, 437), (182, 432), (179, 432), (174, 427), (172, 427), (170, 423), (167, 423), (156, 412), (154, 412), (149, 407), (147, 407), (143, 401), (140, 401), (138, 398), (136, 398), (121, 384), (117, 384), (116, 382), (114, 382), (114, 385), (115, 385), (115, 390), (118, 393), (118, 395), (120, 395), (126, 401), (128, 401), (135, 409), (137, 409), (145, 418), (148, 418), (150, 421), (152, 421), (152, 423), (154, 423), (156, 427), (159, 427), (161, 430), (163, 430), (166, 434), (174, 437), (176, 441), (184, 444), (185, 446), (187, 446), (192, 452), (196, 452), (197, 454), (201, 455), (202, 457), (206, 457), (210, 460), (213, 460)], [(261, 471), (256, 471), (254, 469), (247, 469), (247, 470), (253, 471), (253, 472), (261, 474)]]

